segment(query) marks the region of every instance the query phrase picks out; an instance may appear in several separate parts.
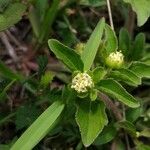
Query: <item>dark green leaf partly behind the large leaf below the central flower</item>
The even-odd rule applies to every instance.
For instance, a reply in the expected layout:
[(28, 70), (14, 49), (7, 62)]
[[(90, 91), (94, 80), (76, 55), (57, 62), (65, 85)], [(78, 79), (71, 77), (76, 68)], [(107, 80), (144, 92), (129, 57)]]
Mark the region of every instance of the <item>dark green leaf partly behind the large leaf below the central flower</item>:
[(110, 142), (117, 134), (117, 130), (113, 124), (109, 124), (104, 128), (100, 135), (94, 141), (94, 145), (102, 145)]

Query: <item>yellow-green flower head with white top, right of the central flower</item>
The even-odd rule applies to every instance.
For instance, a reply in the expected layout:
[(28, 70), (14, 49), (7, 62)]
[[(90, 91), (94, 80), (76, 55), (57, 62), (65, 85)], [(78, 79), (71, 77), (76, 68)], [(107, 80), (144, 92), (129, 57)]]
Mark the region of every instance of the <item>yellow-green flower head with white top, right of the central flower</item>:
[(124, 63), (124, 55), (121, 51), (110, 53), (105, 62), (110, 68), (119, 69)]

